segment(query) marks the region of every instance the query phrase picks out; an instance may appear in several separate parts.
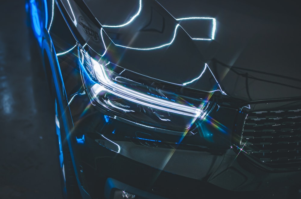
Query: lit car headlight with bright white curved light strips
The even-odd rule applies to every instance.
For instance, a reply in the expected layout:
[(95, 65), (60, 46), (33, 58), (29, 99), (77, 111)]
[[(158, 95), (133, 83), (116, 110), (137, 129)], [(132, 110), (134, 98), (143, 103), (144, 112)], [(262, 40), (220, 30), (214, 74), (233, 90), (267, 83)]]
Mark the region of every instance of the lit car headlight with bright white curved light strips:
[[(93, 105), (111, 117), (150, 128), (187, 132), (213, 108), (206, 99), (188, 98), (130, 78), (142, 76), (104, 60), (96, 61), (79, 48), (81, 74)], [(155, 79), (153, 79), (155, 80)], [(159, 80), (156, 80), (159, 81)]]

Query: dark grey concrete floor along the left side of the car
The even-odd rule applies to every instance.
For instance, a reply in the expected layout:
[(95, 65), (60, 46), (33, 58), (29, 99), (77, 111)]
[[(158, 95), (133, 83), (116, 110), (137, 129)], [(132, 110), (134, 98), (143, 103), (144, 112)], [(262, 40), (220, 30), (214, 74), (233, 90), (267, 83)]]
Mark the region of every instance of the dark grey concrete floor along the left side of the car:
[(54, 101), (25, 1), (0, 6), (0, 198), (62, 198)]

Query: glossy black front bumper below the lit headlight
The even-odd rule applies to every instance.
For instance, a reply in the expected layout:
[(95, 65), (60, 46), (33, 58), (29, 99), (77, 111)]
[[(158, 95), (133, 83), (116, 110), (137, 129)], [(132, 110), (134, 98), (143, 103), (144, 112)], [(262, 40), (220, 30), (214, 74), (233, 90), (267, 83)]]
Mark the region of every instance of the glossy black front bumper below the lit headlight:
[(301, 187), (300, 171), (265, 171), (230, 147), (217, 153), (160, 142), (155, 136), (138, 137), (136, 132), (158, 133), (102, 114), (86, 95), (74, 97), (70, 110), (84, 113), (72, 114), (75, 127), (70, 139), (76, 166), (82, 168), (80, 181), (92, 198), (108, 192), (108, 178), (165, 198), (244, 196), (246, 192), (254, 197), (289, 198)]

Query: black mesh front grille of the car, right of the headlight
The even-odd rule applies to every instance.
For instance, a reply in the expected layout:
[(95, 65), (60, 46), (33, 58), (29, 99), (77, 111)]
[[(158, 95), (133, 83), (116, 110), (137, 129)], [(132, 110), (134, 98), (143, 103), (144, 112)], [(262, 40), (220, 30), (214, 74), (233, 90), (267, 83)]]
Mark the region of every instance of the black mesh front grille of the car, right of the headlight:
[(301, 162), (301, 109), (251, 112), (245, 119), (241, 145), (269, 167), (296, 167)]

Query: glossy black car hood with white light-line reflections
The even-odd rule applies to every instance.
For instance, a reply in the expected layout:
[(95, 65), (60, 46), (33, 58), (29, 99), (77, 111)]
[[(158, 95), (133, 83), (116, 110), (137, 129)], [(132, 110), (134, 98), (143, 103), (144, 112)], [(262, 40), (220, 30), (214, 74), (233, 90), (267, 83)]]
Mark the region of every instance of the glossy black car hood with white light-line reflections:
[(190, 7), (188, 12), (185, 4), (165, 1), (85, 3), (103, 26), (94, 42), (106, 51), (93, 49), (107, 63), (246, 101), (301, 95), (296, 48), (301, 32), (290, 16), (279, 18), (272, 10), (263, 14), (265, 10), (254, 5), (242, 13), (244, 4), (202, 4), (202, 9)]

